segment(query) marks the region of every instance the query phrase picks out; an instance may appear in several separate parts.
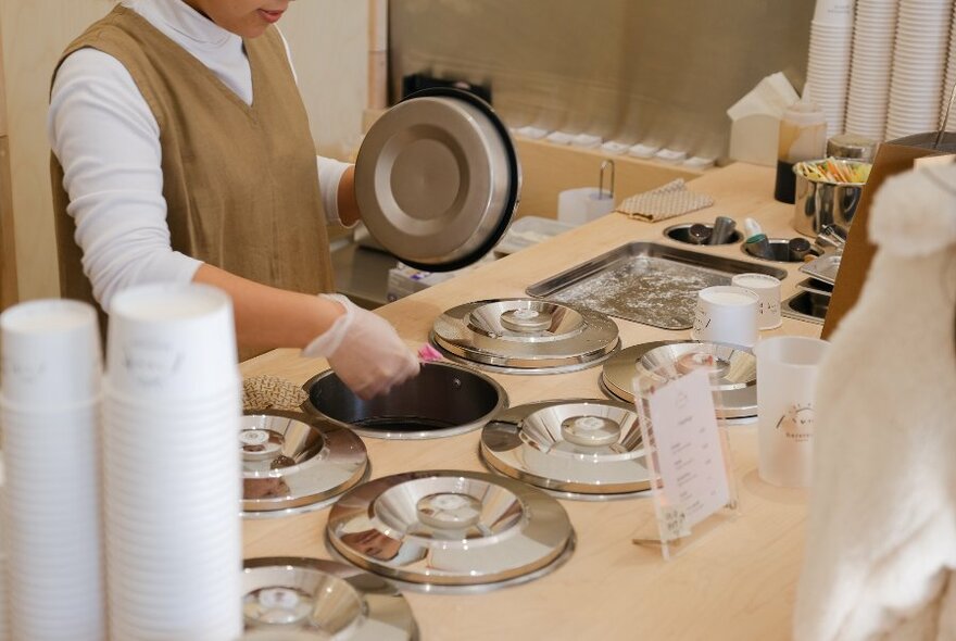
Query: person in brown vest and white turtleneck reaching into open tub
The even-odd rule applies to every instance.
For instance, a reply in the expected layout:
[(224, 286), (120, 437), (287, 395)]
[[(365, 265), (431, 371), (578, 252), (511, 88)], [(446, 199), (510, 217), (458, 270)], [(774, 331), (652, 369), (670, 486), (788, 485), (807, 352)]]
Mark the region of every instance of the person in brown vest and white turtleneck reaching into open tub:
[(360, 215), (353, 166), (315, 153), (276, 26), (291, 1), (123, 0), (66, 48), (48, 117), (61, 290), (109, 311), (134, 285), (217, 286), (243, 357), (302, 348), (367, 399), (418, 361), (326, 293), (326, 224)]

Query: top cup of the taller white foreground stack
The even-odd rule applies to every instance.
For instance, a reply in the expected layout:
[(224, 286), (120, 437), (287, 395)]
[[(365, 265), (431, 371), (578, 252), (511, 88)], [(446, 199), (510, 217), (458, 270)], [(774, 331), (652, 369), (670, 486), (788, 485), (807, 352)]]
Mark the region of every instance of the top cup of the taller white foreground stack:
[(232, 302), (207, 285), (147, 285), (110, 306), (112, 393), (162, 404), (215, 397), (239, 379)]

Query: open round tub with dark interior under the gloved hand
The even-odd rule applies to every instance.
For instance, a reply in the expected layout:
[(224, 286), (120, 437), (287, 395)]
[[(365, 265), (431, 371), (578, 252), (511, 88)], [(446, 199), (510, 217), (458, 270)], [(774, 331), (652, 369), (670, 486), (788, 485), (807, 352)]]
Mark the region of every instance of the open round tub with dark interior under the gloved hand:
[(451, 363), (424, 363), (415, 378), (365, 401), (331, 369), (305, 386), (305, 410), (382, 439), (433, 439), (478, 429), (507, 406), (507, 393), (488, 376)]

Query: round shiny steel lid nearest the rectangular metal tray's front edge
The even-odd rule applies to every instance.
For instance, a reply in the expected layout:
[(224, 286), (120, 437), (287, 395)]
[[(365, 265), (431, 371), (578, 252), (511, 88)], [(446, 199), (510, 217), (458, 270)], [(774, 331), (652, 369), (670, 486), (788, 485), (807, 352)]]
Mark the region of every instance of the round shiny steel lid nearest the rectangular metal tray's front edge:
[(584, 369), (620, 344), (617, 325), (604, 314), (533, 299), (452, 307), (435, 320), (431, 340), (449, 359), (503, 374)]

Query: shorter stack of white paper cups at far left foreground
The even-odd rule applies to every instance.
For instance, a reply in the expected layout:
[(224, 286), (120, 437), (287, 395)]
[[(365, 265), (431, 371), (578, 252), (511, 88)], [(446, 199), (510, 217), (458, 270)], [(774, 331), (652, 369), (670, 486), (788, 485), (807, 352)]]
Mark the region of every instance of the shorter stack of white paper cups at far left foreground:
[(23, 303), (0, 315), (0, 337), (10, 634), (99, 641), (105, 594), (97, 314), (76, 301)]

